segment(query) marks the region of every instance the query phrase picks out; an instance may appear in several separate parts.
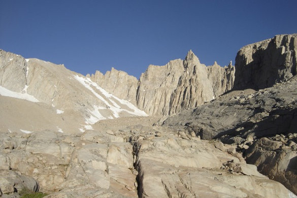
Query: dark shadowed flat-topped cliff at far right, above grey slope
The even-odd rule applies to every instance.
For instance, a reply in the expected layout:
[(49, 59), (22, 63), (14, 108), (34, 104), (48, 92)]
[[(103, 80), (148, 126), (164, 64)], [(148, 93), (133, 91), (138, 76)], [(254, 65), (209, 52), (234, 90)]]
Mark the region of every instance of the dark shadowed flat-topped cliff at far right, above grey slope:
[(297, 74), (297, 34), (247, 45), (235, 60), (235, 89), (263, 89)]

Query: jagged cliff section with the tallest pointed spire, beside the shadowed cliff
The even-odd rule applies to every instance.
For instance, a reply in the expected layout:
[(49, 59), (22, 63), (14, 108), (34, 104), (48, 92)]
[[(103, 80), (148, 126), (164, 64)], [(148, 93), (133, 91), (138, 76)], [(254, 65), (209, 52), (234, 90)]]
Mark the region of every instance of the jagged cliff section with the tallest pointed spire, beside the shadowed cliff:
[(235, 70), (231, 64), (221, 68), (215, 62), (206, 67), (189, 51), (183, 65), (183, 75), (171, 96), (170, 114), (200, 106), (233, 87)]

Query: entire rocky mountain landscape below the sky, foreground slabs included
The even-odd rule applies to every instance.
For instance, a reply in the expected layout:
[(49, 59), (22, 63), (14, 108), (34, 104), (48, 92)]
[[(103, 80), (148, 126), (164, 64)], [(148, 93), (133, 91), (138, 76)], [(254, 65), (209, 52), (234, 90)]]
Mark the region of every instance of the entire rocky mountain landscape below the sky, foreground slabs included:
[(139, 80), (0, 50), (0, 196), (297, 197), (296, 38)]

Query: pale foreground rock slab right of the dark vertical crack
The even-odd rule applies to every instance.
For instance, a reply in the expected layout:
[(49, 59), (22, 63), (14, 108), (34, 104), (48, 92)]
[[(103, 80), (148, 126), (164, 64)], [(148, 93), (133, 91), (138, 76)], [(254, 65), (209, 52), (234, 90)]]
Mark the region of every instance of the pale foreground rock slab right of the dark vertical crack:
[[(172, 134), (138, 140), (134, 147), (139, 197), (288, 197), (282, 185), (259, 174), (255, 166), (207, 141)], [(234, 161), (234, 170), (222, 168), (228, 161)]]

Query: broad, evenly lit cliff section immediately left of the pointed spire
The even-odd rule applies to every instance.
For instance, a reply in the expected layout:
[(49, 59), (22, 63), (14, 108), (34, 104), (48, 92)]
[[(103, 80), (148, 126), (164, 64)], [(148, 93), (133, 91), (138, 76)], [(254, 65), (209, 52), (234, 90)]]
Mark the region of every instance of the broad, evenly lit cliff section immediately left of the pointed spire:
[(139, 79), (137, 106), (149, 115), (168, 115), (172, 95), (184, 72), (181, 59), (167, 65), (150, 65)]

